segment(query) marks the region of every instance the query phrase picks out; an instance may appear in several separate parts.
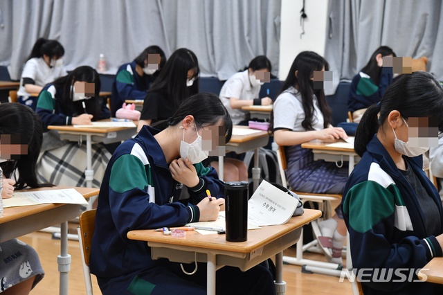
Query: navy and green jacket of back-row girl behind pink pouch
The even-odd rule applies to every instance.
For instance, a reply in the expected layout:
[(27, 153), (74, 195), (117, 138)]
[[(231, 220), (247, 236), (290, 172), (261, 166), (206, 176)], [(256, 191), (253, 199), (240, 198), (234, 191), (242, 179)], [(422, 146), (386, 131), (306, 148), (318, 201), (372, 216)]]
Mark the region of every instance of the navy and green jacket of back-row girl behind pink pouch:
[(116, 116), (116, 111), (122, 107), (125, 100), (144, 100), (146, 91), (154, 82), (157, 73), (159, 71), (156, 71), (154, 75), (138, 75), (136, 62), (120, 66), (112, 84), (111, 115)]

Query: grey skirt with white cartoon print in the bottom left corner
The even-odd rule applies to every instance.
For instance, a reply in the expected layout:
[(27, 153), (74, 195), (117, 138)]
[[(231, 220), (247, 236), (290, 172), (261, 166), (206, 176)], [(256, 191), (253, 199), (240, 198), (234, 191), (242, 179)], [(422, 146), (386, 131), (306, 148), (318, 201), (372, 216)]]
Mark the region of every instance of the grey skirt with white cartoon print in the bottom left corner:
[(33, 247), (17, 239), (0, 243), (0, 293), (33, 276), (35, 287), (44, 271)]

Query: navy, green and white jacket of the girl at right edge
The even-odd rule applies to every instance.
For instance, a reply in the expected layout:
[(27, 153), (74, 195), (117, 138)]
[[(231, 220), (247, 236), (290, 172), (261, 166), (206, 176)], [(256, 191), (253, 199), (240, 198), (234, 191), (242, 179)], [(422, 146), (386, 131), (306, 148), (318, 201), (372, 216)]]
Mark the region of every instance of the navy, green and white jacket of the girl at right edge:
[[(440, 231), (443, 229), (442, 203), (437, 190), (422, 170), (422, 157), (405, 157), (407, 165), (431, 195), (440, 212)], [(343, 191), (342, 210), (350, 233), (352, 266), (363, 268), (409, 269), (416, 274), (442, 249), (435, 236), (426, 233), (424, 217), (415, 191), (374, 135), (361, 161), (350, 175)], [(381, 270), (379, 270), (380, 274)], [(371, 271), (365, 271), (371, 274)], [(386, 276), (385, 276), (386, 277)], [(364, 279), (371, 276), (365, 276)], [(392, 276), (388, 283), (363, 283), (365, 294), (443, 294), (443, 286), (431, 283), (394, 283), (401, 279)], [(417, 276), (413, 276), (417, 280)], [(392, 294), (392, 293), (389, 293)]]

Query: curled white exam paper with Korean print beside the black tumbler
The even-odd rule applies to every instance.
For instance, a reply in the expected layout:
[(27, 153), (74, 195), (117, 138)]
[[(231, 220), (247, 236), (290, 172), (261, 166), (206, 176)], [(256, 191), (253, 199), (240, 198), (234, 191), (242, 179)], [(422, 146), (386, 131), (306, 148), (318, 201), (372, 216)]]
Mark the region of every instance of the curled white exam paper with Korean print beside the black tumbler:
[(296, 211), (298, 199), (263, 180), (248, 202), (248, 222), (257, 226), (285, 224)]

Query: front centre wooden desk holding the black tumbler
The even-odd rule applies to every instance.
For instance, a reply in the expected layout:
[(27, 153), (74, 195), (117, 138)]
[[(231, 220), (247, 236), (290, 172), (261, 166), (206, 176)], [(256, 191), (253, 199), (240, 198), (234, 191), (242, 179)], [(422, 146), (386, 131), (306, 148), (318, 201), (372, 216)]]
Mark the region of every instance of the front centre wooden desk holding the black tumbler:
[[(151, 247), (152, 259), (168, 258), (172, 262), (207, 262), (207, 294), (215, 294), (215, 271), (224, 266), (239, 267), (246, 271), (278, 254), (275, 261), (276, 279), (282, 281), (282, 251), (300, 238), (301, 227), (321, 216), (318, 210), (305, 209), (305, 214), (292, 217), (287, 224), (263, 226), (248, 231), (246, 242), (226, 242), (225, 235), (201, 235), (187, 231), (186, 238), (172, 238), (154, 230), (129, 231), (130, 240), (146, 241)], [(284, 290), (286, 289), (284, 283)]]

